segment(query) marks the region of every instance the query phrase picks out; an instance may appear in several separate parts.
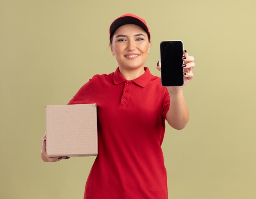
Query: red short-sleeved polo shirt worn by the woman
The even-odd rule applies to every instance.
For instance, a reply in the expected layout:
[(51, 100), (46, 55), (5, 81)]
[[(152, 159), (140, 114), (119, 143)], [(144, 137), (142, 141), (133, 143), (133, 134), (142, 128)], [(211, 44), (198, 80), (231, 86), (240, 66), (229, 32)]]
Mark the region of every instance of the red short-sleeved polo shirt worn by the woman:
[(84, 199), (167, 199), (161, 144), (170, 98), (160, 78), (144, 68), (126, 80), (119, 68), (94, 75), (68, 104), (97, 104), (99, 154)]

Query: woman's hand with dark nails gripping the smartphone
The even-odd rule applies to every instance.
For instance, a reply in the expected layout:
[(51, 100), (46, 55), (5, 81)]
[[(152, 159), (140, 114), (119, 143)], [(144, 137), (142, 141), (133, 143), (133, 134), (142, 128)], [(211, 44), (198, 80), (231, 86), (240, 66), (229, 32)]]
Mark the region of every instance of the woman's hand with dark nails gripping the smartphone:
[[(193, 56), (189, 56), (189, 54), (187, 53), (186, 50), (183, 51), (183, 57), (182, 60), (184, 61), (184, 64), (182, 64), (182, 66), (184, 68), (184, 84), (183, 86), (185, 86), (186, 84), (188, 84), (192, 79), (193, 79), (193, 69), (195, 67), (195, 62), (194, 62), (194, 57)], [(157, 69), (159, 71), (161, 71), (161, 62), (157, 62)], [(183, 87), (183, 86), (177, 86), (177, 87)]]

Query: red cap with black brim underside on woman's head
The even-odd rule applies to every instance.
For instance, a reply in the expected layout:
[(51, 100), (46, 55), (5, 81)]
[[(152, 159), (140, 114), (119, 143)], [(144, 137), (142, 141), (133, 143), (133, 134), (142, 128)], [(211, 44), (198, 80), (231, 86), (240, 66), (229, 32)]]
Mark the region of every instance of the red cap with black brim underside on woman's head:
[(135, 24), (140, 26), (142, 29), (144, 29), (144, 31), (146, 31), (146, 33), (148, 33), (150, 39), (150, 32), (145, 20), (130, 13), (122, 15), (121, 17), (115, 19), (112, 22), (112, 24), (109, 27), (109, 39), (115, 33), (116, 29), (126, 24)]

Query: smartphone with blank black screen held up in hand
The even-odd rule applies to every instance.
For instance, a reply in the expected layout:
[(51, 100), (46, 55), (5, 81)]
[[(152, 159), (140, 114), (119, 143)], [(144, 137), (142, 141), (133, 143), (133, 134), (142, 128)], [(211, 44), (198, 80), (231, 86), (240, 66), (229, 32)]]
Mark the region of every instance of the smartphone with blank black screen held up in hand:
[(162, 41), (160, 54), (162, 86), (182, 86), (184, 84), (183, 42)]

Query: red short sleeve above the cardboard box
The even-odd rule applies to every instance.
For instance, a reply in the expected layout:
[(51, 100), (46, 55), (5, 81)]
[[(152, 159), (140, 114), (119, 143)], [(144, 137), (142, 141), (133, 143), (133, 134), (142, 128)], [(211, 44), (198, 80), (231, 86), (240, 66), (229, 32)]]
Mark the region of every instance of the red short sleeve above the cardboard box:
[(90, 98), (92, 79), (84, 84), (68, 104), (86, 104)]

